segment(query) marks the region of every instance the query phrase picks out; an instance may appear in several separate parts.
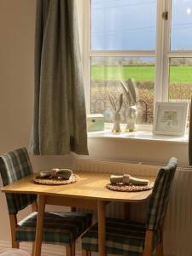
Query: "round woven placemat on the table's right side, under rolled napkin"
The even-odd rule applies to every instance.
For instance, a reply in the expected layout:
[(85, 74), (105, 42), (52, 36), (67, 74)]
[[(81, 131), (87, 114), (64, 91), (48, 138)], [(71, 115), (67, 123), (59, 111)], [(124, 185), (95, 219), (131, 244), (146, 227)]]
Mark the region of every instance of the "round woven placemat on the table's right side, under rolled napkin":
[(148, 183), (148, 185), (134, 185), (134, 184), (129, 184), (125, 185), (123, 183), (116, 183), (112, 184), (109, 183), (107, 184), (106, 188), (113, 190), (113, 191), (119, 191), (119, 192), (139, 192), (139, 191), (145, 191), (149, 189), (153, 189), (154, 183)]

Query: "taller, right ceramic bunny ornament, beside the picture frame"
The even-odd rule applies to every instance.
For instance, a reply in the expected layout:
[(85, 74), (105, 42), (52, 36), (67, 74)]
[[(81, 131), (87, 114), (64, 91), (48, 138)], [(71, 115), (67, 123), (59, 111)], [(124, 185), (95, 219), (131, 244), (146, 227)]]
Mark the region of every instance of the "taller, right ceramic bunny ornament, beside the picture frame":
[(128, 103), (126, 111), (127, 125), (125, 131), (136, 131), (136, 120), (137, 120), (137, 96), (136, 96), (136, 86), (131, 79), (127, 80), (127, 83), (120, 82)]

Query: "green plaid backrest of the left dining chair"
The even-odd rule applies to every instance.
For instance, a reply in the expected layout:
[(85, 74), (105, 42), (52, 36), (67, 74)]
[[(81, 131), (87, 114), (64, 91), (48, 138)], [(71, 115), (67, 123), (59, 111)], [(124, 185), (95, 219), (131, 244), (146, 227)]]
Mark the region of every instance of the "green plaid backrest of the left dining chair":
[[(26, 148), (18, 148), (0, 156), (0, 172), (3, 185), (9, 185), (32, 174), (32, 165)], [(6, 193), (9, 214), (17, 214), (20, 210), (33, 201), (37, 200), (37, 195), (21, 195)]]

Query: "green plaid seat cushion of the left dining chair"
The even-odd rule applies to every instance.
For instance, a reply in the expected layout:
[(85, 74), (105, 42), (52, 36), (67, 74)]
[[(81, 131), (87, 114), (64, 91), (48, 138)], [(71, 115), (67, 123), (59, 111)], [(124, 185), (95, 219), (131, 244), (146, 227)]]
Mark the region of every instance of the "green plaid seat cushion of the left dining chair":
[[(16, 228), (16, 241), (34, 241), (38, 212), (21, 220)], [(91, 224), (91, 214), (85, 212), (45, 212), (46, 243), (71, 245)]]

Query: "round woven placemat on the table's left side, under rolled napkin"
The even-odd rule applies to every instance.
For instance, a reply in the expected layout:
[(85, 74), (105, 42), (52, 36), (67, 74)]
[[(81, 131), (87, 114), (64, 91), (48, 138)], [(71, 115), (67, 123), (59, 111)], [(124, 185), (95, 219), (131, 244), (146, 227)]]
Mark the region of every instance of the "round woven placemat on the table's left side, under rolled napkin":
[(43, 185), (67, 185), (70, 183), (75, 183), (79, 180), (79, 176), (72, 174), (69, 179), (64, 179), (61, 177), (35, 177), (34, 182)]

